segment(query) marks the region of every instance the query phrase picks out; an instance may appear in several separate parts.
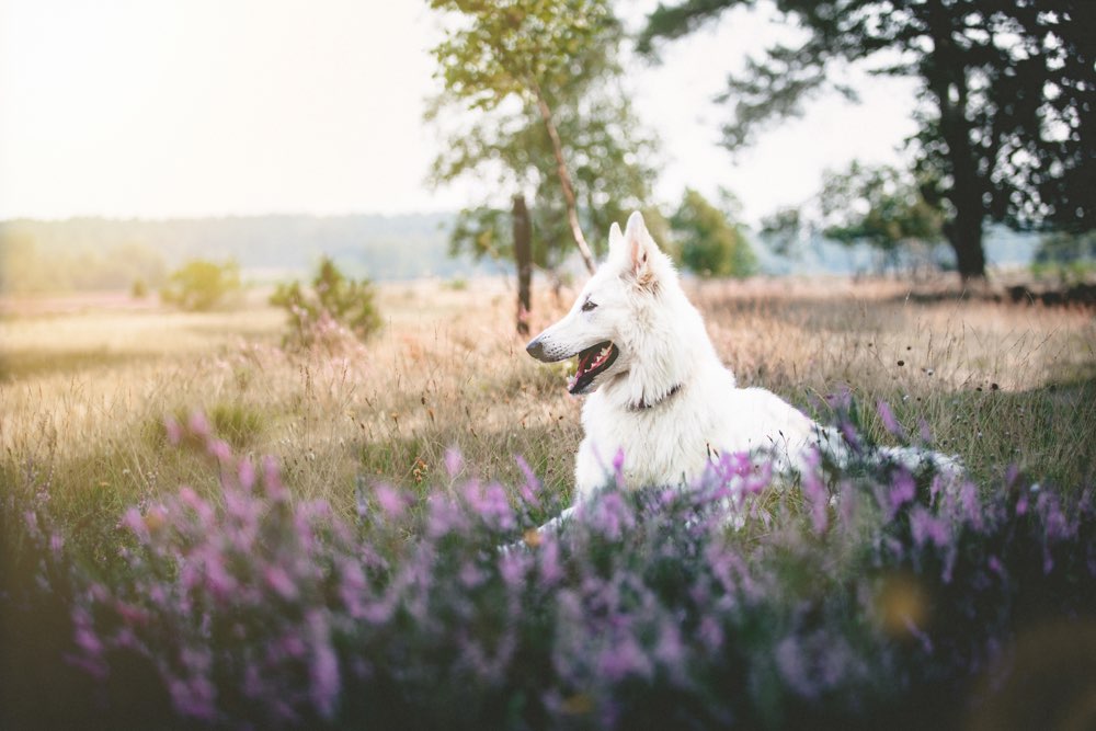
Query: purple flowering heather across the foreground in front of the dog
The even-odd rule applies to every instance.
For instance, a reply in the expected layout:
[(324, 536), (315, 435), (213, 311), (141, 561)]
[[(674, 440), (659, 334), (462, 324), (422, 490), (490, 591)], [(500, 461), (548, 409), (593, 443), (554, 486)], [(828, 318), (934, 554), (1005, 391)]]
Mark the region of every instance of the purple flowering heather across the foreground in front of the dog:
[[(72, 607), (73, 661), (104, 684), (155, 669), (185, 723), (977, 722), (1031, 672), (1025, 638), (1096, 619), (1091, 491), (1066, 501), (1015, 470), (979, 491), (869, 460), (788, 480), (724, 455), (693, 490), (610, 484), (537, 530), (561, 505), (532, 470), (456, 479), (450, 453), (447, 487), (361, 484), (347, 522), (293, 501), (276, 460), (189, 430), (169, 435), (205, 452), (221, 495), (132, 509), (126, 576)], [(1026, 708), (1083, 713), (1092, 681)]]

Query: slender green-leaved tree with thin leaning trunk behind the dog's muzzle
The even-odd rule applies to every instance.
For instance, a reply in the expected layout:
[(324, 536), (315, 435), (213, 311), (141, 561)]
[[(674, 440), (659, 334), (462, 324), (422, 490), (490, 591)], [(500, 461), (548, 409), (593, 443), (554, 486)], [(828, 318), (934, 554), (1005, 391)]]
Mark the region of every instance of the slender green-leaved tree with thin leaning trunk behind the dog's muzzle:
[[(432, 0), (431, 7), (450, 11), (459, 26), (434, 48), (445, 91), (427, 121), (444, 128), (454, 119), (444, 111), (475, 113), (458, 117), (463, 127), (443, 129), (432, 180), (492, 178), (510, 204), (509, 212), (498, 199), (461, 212), (452, 250), (513, 261), (514, 232), (527, 230), (534, 264), (555, 270), (570, 237), (592, 271), (609, 225), (640, 207), (653, 176), (641, 162), (653, 142), (639, 133), (620, 90), (620, 25), (609, 2)], [(521, 212), (527, 229), (516, 226)], [(583, 226), (593, 232), (593, 251)], [(523, 312), (527, 300), (518, 306), (518, 329)]]

